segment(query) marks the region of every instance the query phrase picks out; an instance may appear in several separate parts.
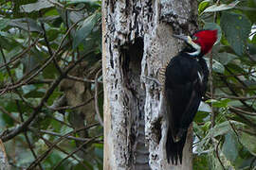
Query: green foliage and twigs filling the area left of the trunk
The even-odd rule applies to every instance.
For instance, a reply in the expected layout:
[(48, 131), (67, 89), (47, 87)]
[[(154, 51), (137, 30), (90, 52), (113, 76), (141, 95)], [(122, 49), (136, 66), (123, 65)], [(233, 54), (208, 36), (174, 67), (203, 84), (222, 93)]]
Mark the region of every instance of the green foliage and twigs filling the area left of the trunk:
[(94, 79), (101, 69), (101, 1), (0, 0), (0, 8), (1, 134), (36, 112), (17, 136), (1, 136), (11, 169), (102, 169), (102, 127), (87, 110), (95, 84), (64, 76), (78, 59), (68, 76)]

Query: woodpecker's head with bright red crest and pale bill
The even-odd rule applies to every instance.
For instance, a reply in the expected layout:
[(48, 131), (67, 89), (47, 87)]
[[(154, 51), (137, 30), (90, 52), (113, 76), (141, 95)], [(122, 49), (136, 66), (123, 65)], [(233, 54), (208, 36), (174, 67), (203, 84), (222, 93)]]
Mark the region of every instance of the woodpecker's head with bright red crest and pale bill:
[(203, 56), (207, 54), (217, 41), (217, 30), (201, 30), (190, 36), (173, 35), (175, 38), (181, 39), (192, 46), (192, 52), (188, 53), (192, 56)]

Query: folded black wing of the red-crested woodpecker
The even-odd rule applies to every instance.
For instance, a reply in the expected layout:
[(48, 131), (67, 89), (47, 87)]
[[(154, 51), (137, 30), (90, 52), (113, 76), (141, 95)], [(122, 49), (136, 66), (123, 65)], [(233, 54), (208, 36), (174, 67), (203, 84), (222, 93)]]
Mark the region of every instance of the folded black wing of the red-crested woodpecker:
[(167, 115), (174, 141), (179, 141), (192, 123), (202, 98), (200, 92), (202, 86), (202, 77), (196, 73), (192, 80), (188, 80), (184, 84), (173, 83), (172, 86), (166, 87)]

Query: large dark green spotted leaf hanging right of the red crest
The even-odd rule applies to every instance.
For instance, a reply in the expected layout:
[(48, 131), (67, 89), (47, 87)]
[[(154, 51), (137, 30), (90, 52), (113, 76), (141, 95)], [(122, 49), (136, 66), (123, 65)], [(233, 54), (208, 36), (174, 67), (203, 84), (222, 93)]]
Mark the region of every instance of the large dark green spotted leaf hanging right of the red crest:
[(220, 25), (235, 53), (243, 55), (251, 27), (247, 17), (243, 14), (223, 12)]

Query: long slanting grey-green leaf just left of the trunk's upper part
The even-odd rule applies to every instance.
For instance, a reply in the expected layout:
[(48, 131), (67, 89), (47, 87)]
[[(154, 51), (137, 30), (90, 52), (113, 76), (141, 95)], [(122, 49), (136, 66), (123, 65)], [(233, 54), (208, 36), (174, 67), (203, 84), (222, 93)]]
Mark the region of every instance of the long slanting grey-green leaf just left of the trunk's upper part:
[(101, 16), (99, 15), (99, 13), (94, 13), (93, 15), (86, 18), (86, 20), (82, 24), (82, 27), (76, 32), (73, 41), (73, 49), (76, 49), (78, 45), (87, 38), (100, 17)]

